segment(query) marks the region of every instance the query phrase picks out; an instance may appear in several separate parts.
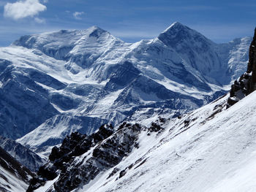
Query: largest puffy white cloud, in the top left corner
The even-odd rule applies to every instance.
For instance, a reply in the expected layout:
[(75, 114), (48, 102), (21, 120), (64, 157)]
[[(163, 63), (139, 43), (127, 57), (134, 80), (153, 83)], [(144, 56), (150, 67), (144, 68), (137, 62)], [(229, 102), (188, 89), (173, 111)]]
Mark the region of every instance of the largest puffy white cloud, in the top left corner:
[(4, 17), (14, 20), (34, 17), (39, 12), (45, 11), (46, 7), (39, 0), (23, 0), (15, 3), (7, 3), (4, 6)]

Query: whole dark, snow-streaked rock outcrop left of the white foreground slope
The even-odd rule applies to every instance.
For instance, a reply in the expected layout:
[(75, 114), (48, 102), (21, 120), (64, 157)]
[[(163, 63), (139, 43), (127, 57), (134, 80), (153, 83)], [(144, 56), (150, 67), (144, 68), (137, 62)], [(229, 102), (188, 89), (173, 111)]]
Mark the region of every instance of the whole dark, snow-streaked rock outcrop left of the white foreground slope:
[(49, 192), (72, 191), (86, 185), (99, 172), (116, 166), (133, 148), (139, 147), (137, 140), (141, 131), (147, 131), (148, 136), (153, 132), (161, 133), (165, 122), (164, 118), (159, 118), (149, 128), (124, 122), (117, 130), (104, 124), (89, 136), (72, 133), (64, 139), (61, 147), (53, 147), (48, 163), (39, 168), (27, 191), (34, 191), (54, 179), (56, 182)]

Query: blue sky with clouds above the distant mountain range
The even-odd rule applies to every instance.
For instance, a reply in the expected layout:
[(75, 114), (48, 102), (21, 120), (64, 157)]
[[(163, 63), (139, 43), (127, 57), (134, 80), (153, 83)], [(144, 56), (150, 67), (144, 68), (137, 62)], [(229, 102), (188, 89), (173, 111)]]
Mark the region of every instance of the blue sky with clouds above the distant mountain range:
[(178, 21), (214, 42), (252, 36), (256, 1), (0, 0), (0, 46), (25, 34), (99, 26), (126, 42), (157, 37)]

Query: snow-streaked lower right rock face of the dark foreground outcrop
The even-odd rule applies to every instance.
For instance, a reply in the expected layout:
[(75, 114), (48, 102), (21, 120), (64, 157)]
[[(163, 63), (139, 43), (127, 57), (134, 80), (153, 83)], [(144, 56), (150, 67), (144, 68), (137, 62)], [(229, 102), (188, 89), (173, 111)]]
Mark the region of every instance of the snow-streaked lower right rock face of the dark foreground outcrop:
[(84, 154), (87, 161), (73, 162), (71, 167), (61, 171), (53, 191), (72, 191), (81, 184), (89, 183), (102, 170), (118, 164), (131, 152), (139, 132), (140, 126), (130, 125), (119, 129), (104, 142), (98, 142), (92, 154)]

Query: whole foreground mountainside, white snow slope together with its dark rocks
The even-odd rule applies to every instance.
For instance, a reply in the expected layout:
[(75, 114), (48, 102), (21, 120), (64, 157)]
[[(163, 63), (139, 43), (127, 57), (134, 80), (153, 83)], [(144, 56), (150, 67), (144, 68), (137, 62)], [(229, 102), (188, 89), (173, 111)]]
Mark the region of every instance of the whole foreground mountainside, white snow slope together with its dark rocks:
[(92, 137), (73, 134), (30, 189), (255, 191), (256, 92), (228, 109), (227, 98), (148, 127), (123, 123)]

